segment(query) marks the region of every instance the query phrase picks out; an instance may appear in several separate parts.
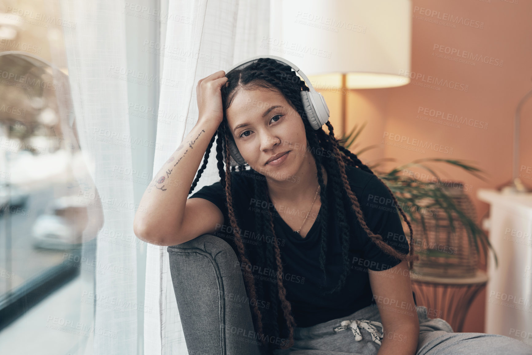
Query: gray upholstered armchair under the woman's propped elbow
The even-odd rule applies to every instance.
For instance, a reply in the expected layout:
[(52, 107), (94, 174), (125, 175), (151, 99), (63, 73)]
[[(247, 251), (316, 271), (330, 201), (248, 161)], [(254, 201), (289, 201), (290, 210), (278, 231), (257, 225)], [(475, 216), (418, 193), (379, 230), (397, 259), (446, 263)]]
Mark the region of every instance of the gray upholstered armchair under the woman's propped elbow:
[(168, 246), (170, 274), (190, 355), (259, 355), (238, 259), (221, 238), (204, 234)]

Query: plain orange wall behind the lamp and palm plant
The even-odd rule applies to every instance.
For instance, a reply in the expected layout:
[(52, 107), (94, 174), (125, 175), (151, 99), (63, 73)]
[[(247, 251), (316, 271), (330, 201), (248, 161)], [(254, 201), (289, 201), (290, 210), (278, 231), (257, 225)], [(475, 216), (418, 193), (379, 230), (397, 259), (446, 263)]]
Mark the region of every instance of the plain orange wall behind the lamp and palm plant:
[[(420, 158), (460, 159), (486, 171), (487, 182), (462, 169), (447, 168), (447, 164), (433, 164), (441, 173), (440, 177), (459, 180), (472, 186), (472, 191), (467, 194), (475, 203), (479, 223), (481, 216), (488, 211), (488, 205), (477, 199), (477, 189), (495, 188), (511, 179), (514, 112), (521, 97), (532, 88), (532, 2), (511, 1), (414, 0), (413, 11), (415, 6), (419, 6), (430, 9), (431, 13), (432, 10), (439, 11), (440, 18), (443, 13), (448, 13), (478, 22), (473, 22), (473, 27), (456, 24), (453, 28), (426, 21), (425, 18), (430, 18), (426, 12), (413, 12), (411, 72), (420, 78), (411, 79), (411, 84), (397, 88), (351, 90), (347, 96), (347, 129), (355, 123), (368, 121), (359, 139), (360, 146), (379, 145), (379, 148), (361, 154), (363, 162), (395, 158), (395, 163), (386, 166), (391, 168)], [(437, 15), (430, 19), (439, 21), (436, 17)], [(467, 51), (473, 55), (487, 56), (492, 63), (500, 64), (502, 61), (502, 66), (469, 59), (475, 63), (471, 65), (437, 57), (437, 54), (448, 54), (440, 53), (438, 48), (434, 49), (435, 45), (442, 46), (444, 52), (445, 47), (451, 47), (459, 49), (460, 53)], [(458, 59), (456, 55), (451, 57)], [(431, 80), (429, 76), (459, 82), (462, 90), (450, 88), (451, 84), (432, 84), (435, 88), (413, 84), (414, 81), (416, 84), (427, 84)], [(331, 109), (331, 117), (338, 117), (339, 94), (324, 94)], [(417, 117), (422, 114), (418, 113), (420, 107), (443, 111), (445, 115), (451, 113), (467, 117), (472, 119), (473, 124), (477, 120), (478, 126), (484, 126), (480, 121), (486, 122), (487, 129), (463, 123), (455, 128), (422, 120)], [(332, 123), (336, 136), (339, 137), (342, 134), (339, 120), (335, 118)], [(416, 152), (381, 144), (385, 132), (443, 145), (452, 148), (452, 154), (438, 151)], [(532, 98), (521, 112), (520, 166), (532, 167), (530, 133)], [(532, 189), (529, 175), (522, 176), (521, 179)], [(481, 269), (485, 269), (484, 263), (484, 260), (481, 261)], [(484, 332), (484, 307), (485, 292), (482, 291), (468, 312), (464, 332)]]

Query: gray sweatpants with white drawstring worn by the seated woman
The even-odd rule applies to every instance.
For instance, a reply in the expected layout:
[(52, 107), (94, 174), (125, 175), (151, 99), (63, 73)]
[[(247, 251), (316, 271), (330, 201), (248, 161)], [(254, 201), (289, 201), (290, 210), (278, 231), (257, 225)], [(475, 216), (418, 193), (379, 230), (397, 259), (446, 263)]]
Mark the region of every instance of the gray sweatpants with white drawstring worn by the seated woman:
[[(443, 319), (427, 317), (427, 308), (417, 306), (419, 342), (415, 355), (532, 355), (532, 346), (508, 336), (485, 333), (453, 333)], [(294, 329), (294, 346), (278, 349), (275, 355), (376, 355), (384, 337), (405, 341), (387, 334), (378, 308), (368, 306), (350, 316), (329, 320), (311, 327)], [(336, 330), (335, 330), (336, 329)]]

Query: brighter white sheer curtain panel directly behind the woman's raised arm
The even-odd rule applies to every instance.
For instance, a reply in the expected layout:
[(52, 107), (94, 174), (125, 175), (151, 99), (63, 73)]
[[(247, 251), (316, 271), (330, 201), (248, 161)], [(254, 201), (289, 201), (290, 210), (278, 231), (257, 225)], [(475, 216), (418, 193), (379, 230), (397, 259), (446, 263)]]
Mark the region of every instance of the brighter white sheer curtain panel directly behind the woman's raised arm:
[[(183, 48), (193, 55), (186, 62), (164, 60), (162, 77), (179, 80), (179, 85), (161, 87), (159, 110), (178, 119), (169, 125), (159, 123), (157, 127), (157, 143), (168, 150), (156, 151), (154, 174), (197, 121), (197, 81), (215, 71), (227, 70), (247, 57), (268, 54), (261, 43), (269, 36), (269, 9), (267, 1), (170, 1), (170, 14), (181, 14), (194, 21), (192, 25), (186, 23), (189, 21), (169, 21), (165, 44), (167, 48)], [(211, 159), (196, 191), (218, 179)], [(146, 265), (145, 302), (157, 312), (145, 318), (145, 354), (185, 354), (166, 247), (150, 245)]]

